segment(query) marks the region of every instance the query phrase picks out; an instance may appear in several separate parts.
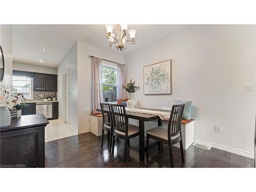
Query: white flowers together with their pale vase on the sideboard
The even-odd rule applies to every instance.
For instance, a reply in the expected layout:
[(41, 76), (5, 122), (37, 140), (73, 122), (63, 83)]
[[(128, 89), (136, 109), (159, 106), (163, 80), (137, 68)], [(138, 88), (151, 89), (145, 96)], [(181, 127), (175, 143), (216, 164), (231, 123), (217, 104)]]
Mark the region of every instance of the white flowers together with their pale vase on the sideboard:
[(14, 105), (22, 102), (22, 100), (18, 99), (20, 95), (22, 94), (14, 93), (10, 95), (7, 87), (0, 87), (0, 128), (8, 127), (11, 124), (9, 109), (12, 109)]

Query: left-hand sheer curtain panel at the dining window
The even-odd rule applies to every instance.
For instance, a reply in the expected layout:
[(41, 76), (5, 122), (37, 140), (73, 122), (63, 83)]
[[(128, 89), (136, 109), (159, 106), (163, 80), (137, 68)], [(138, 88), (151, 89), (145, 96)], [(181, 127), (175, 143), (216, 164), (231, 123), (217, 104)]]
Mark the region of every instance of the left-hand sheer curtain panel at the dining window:
[(102, 93), (102, 59), (98, 57), (92, 57), (92, 100), (93, 100), (93, 114), (97, 114), (96, 111), (100, 108), (100, 102), (103, 101)]

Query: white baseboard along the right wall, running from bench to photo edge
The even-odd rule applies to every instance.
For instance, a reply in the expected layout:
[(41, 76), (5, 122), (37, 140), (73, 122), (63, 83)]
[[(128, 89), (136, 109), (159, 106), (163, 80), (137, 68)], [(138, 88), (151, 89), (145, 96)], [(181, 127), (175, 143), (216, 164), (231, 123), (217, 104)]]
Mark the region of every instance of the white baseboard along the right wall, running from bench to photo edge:
[(241, 155), (244, 157), (254, 159), (254, 153), (238, 150), (237, 148), (232, 148), (232, 147), (228, 147), (228, 146), (224, 146), (224, 145), (220, 145), (220, 144), (216, 144), (216, 143), (211, 143), (211, 142), (200, 140), (200, 139), (194, 139), (194, 142), (201, 143), (204, 145), (210, 145), (211, 147), (218, 148), (219, 150), (223, 150), (226, 152), (230, 152), (233, 154), (237, 154), (237, 155)]

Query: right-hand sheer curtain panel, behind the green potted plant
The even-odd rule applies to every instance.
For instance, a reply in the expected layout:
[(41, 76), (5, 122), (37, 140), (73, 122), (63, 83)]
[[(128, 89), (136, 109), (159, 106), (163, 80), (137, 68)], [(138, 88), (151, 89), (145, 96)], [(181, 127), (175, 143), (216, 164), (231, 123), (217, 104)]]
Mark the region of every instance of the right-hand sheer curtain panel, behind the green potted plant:
[(117, 64), (117, 99), (126, 99), (128, 98), (127, 92), (122, 89), (123, 84), (125, 84), (125, 75), (124, 75), (124, 65)]

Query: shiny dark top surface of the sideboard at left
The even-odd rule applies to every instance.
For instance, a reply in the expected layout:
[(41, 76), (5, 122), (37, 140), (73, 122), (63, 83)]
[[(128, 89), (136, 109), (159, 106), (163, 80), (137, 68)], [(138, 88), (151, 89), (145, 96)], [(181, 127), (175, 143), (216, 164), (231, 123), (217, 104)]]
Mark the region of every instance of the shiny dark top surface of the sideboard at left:
[(22, 115), (11, 120), (11, 124), (8, 127), (0, 128), (0, 132), (8, 132), (13, 130), (28, 129), (37, 126), (46, 126), (49, 121), (42, 114), (40, 115)]

